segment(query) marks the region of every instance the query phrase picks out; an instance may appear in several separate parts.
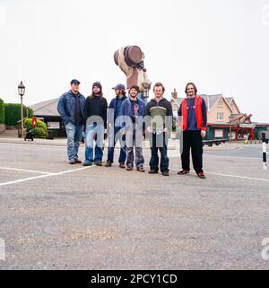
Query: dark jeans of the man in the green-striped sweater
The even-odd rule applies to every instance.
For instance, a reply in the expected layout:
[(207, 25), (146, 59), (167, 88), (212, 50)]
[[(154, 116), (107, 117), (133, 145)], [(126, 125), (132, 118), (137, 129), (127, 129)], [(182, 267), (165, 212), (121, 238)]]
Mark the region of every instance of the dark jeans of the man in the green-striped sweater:
[(150, 144), (152, 150), (152, 158), (150, 161), (151, 170), (159, 170), (159, 150), (161, 153), (161, 172), (169, 171), (169, 158), (167, 155), (167, 135), (165, 133), (161, 133), (160, 135), (152, 134), (152, 136), (150, 137)]

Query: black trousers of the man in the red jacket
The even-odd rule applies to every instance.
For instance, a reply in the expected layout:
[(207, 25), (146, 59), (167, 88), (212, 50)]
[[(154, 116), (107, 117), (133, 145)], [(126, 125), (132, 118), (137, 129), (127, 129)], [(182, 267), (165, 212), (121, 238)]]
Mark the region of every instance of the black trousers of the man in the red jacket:
[(203, 140), (201, 131), (183, 132), (183, 152), (181, 154), (182, 169), (189, 171), (190, 148), (196, 173), (203, 172)]

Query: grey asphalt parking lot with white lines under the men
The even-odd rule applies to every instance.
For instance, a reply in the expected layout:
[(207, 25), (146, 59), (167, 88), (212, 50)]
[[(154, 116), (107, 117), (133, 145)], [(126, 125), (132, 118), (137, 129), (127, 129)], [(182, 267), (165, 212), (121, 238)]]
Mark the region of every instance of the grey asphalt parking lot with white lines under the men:
[(268, 269), (261, 149), (206, 151), (198, 179), (177, 175), (178, 150), (165, 178), (68, 165), (64, 146), (0, 143), (0, 269)]

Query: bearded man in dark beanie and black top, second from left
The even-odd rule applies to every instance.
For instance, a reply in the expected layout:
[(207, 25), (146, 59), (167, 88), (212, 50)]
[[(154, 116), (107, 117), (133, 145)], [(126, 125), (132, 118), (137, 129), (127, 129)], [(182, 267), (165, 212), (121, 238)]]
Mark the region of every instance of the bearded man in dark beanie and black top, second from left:
[[(107, 109), (108, 102), (103, 97), (102, 86), (100, 82), (95, 82), (92, 84), (91, 96), (85, 101), (86, 131), (85, 161), (83, 166), (91, 166), (92, 163), (102, 166), (104, 132), (107, 127)], [(94, 139), (96, 144), (93, 149)]]

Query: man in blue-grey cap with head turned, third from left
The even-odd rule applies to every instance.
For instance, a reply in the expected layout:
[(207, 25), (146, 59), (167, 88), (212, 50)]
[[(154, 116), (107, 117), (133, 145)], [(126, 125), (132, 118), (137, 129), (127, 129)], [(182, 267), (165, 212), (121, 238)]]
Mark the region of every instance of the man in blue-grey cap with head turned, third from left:
[[(121, 148), (118, 158), (119, 168), (126, 168), (126, 145), (124, 144), (125, 136), (121, 135), (120, 130), (122, 124), (119, 118), (122, 116), (121, 106), (126, 100), (126, 86), (124, 84), (117, 84), (112, 88), (115, 90), (116, 97), (113, 98), (108, 107), (108, 161), (106, 167), (111, 167), (114, 161), (114, 147), (117, 140), (120, 140)], [(119, 120), (119, 121), (118, 121)]]

